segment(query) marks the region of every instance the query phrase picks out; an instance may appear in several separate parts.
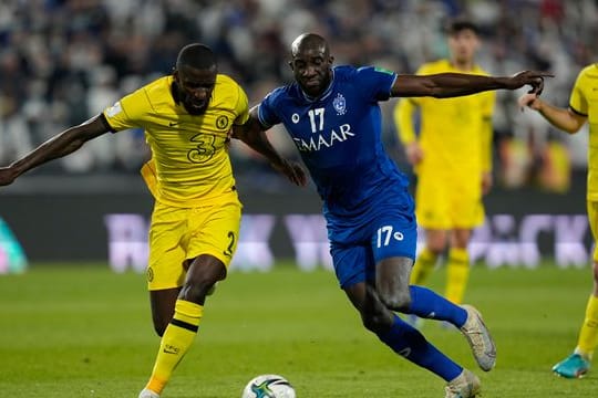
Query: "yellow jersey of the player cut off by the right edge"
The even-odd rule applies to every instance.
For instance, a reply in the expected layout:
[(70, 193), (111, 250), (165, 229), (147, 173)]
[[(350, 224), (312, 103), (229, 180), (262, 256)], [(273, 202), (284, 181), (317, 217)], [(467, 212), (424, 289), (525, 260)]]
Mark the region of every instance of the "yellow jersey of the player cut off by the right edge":
[(598, 201), (598, 63), (584, 67), (577, 75), (569, 107), (589, 122), (587, 199)]

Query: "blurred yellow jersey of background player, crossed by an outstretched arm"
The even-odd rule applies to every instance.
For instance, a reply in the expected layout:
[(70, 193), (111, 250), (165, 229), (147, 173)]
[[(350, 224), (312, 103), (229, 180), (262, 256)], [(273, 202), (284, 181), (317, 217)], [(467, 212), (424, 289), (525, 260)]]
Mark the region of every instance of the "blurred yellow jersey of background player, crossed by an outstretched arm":
[[(427, 75), (462, 71), (448, 60), (423, 64), (416, 74)], [(480, 66), (471, 74), (487, 75)], [(493, 91), (454, 98), (402, 98), (394, 108), (394, 122), (403, 144), (419, 139), (423, 160), (417, 174), (430, 172), (440, 179), (480, 181), (482, 172), (492, 170)], [(413, 118), (420, 111), (420, 135)], [(474, 177), (475, 176), (475, 177)]]

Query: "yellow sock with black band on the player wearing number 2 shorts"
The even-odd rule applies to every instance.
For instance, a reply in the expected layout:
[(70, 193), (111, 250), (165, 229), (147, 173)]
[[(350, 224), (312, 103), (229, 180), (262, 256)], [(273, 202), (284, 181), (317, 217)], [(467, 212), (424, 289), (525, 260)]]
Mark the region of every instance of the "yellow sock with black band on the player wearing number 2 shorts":
[(162, 394), (162, 390), (171, 379), (173, 370), (189, 349), (199, 321), (204, 314), (204, 307), (184, 300), (177, 300), (173, 321), (166, 327), (159, 343), (159, 350), (152, 370), (152, 377), (146, 388)]

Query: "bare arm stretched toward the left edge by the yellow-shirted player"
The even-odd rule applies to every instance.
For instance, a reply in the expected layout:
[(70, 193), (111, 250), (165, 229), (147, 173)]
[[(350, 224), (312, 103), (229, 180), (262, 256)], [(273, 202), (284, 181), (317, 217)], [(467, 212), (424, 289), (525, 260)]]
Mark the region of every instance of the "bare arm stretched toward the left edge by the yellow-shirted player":
[(90, 139), (109, 130), (103, 115), (97, 115), (83, 124), (65, 129), (10, 166), (0, 167), (0, 186), (12, 184), (23, 172), (78, 150)]

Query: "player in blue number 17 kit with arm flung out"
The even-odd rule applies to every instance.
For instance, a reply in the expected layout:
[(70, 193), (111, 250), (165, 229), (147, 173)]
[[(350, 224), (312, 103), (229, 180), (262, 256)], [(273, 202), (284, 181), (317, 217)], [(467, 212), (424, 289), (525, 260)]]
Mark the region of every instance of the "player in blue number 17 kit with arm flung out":
[[(365, 328), (396, 354), (443, 378), (445, 397), (476, 397), (480, 379), (395, 314), (450, 322), (466, 337), (480, 367), (486, 371), (494, 367), (494, 342), (473, 306), (455, 305), (426, 287), (409, 285), (416, 243), (414, 203), (406, 177), (383, 149), (378, 102), (524, 85), (539, 93), (549, 75), (526, 71), (511, 77), (415, 76), (332, 63), (322, 36), (298, 36), (289, 62), (296, 82), (269, 93), (250, 111), (249, 123), (236, 127), (235, 136), (256, 148), (265, 130), (285, 125), (323, 200), (336, 274)], [(261, 153), (269, 150), (274, 149), (264, 142)]]

